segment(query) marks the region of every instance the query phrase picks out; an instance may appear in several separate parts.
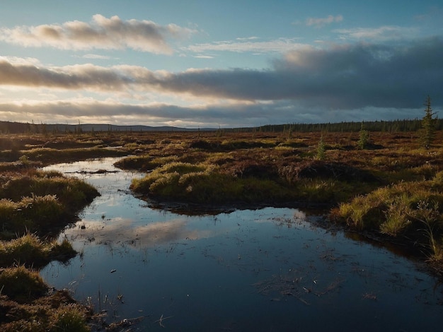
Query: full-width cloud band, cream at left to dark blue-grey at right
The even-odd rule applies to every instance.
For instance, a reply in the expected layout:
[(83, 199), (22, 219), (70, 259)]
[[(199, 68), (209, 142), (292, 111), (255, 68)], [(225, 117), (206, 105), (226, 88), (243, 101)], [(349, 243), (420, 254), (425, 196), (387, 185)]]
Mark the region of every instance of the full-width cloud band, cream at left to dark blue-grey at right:
[(84, 64), (45, 67), (0, 58), (0, 86), (145, 91), (257, 102), (293, 100), (305, 107), (416, 107), (426, 95), (443, 105), (443, 38), (408, 44), (335, 45), (287, 52), (269, 69), (189, 69)]

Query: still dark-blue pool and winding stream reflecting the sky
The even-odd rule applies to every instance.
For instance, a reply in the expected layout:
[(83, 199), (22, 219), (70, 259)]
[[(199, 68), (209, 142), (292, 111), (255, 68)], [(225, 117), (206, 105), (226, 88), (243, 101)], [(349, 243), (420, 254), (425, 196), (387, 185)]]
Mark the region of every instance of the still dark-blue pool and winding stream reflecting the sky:
[[(41, 271), (108, 323), (139, 318), (132, 331), (441, 328), (442, 286), (413, 261), (292, 208), (154, 210), (127, 191), (142, 174), (113, 162), (47, 167), (85, 179), (101, 196), (60, 235), (79, 255)], [(91, 173), (99, 169), (110, 172)]]

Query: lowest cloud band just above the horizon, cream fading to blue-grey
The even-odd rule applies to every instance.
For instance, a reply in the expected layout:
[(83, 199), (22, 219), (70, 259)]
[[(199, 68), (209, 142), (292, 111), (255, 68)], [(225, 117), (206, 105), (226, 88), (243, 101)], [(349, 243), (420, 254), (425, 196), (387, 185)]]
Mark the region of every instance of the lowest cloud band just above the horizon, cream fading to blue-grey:
[(264, 124), (321, 123), (415, 119), (422, 117), (422, 100), (418, 108), (362, 107), (333, 109), (311, 106), (294, 100), (272, 102), (232, 102), (229, 104), (190, 105), (179, 107), (164, 103), (128, 105), (121, 102), (93, 100), (58, 100), (53, 102), (0, 103), (0, 116), (9, 121), (48, 124), (104, 123), (151, 126), (183, 126), (188, 128), (233, 128)]

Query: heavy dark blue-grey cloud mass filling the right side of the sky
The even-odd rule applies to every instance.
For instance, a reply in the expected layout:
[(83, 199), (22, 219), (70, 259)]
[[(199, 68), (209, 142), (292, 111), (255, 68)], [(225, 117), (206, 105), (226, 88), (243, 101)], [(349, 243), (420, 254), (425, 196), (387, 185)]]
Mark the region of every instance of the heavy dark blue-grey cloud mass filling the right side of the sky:
[(165, 90), (237, 100), (298, 100), (340, 109), (416, 107), (432, 95), (443, 105), (443, 39), (410, 45), (301, 49), (272, 69), (187, 71), (156, 81)]

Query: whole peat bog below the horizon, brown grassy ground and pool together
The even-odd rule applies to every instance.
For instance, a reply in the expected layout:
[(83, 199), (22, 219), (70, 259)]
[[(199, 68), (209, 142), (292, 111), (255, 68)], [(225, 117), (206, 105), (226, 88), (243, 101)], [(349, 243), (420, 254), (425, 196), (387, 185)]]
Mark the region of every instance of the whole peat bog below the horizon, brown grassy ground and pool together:
[[(343, 309), (346, 302), (356, 310), (372, 310), (373, 324), (384, 326), (393, 313), (381, 314), (379, 307), (396, 304), (385, 296), (389, 291), (379, 278), (402, 290), (402, 303), (432, 304), (428, 312), (420, 305), (415, 312), (437, 315), (437, 321), (426, 323), (437, 326), (442, 294), (439, 287), (432, 292), (432, 278), (438, 280), (442, 270), (442, 132), (437, 131), (429, 149), (420, 148), (415, 132), (371, 132), (369, 139), (371, 144), (362, 148), (358, 132), (1, 136), (2, 326), (7, 331), (18, 326), (23, 331), (60, 331), (60, 326), (65, 326), (62, 331), (91, 326), (125, 331), (171, 324), (174, 330), (268, 331), (298, 324), (300, 331), (316, 331), (309, 321), (288, 319), (291, 310), (309, 316), (313, 307), (338, 304)], [(116, 166), (127, 171), (106, 166), (108, 159), (91, 172), (81, 167), (63, 173), (40, 170), (57, 162), (111, 157), (120, 157)], [(93, 201), (100, 179), (122, 174), (127, 187), (107, 184), (108, 201), (100, 203), (103, 193)], [(88, 182), (93, 178), (98, 191)], [(113, 197), (123, 201), (114, 206)], [(139, 215), (122, 215), (129, 201)], [(77, 213), (81, 220), (74, 223)], [(350, 244), (352, 234), (412, 254), (411, 261), (379, 256), (384, 247)], [(69, 260), (73, 249), (76, 257)], [(88, 270), (94, 262), (103, 266)], [(429, 273), (411, 272), (416, 264)], [(132, 269), (133, 274), (122, 272)], [(93, 280), (100, 285), (86, 287), (72, 274), (78, 271), (85, 271), (91, 285)], [(35, 291), (10, 292), (8, 280), (17, 278), (10, 277), (13, 273), (35, 280)], [(137, 290), (150, 300), (136, 302)], [(54, 297), (58, 300), (50, 300)], [(269, 303), (278, 308), (272, 314)], [(402, 310), (394, 316), (406, 323), (398, 328), (405, 329), (411, 313)], [(66, 312), (72, 317), (63, 321)], [(93, 313), (95, 323), (88, 327)], [(263, 318), (251, 325), (257, 315)], [(340, 313), (322, 315), (332, 322)], [(76, 329), (69, 330), (69, 324)], [(341, 326), (346, 330), (355, 324)], [(375, 328), (367, 326), (367, 331)]]

